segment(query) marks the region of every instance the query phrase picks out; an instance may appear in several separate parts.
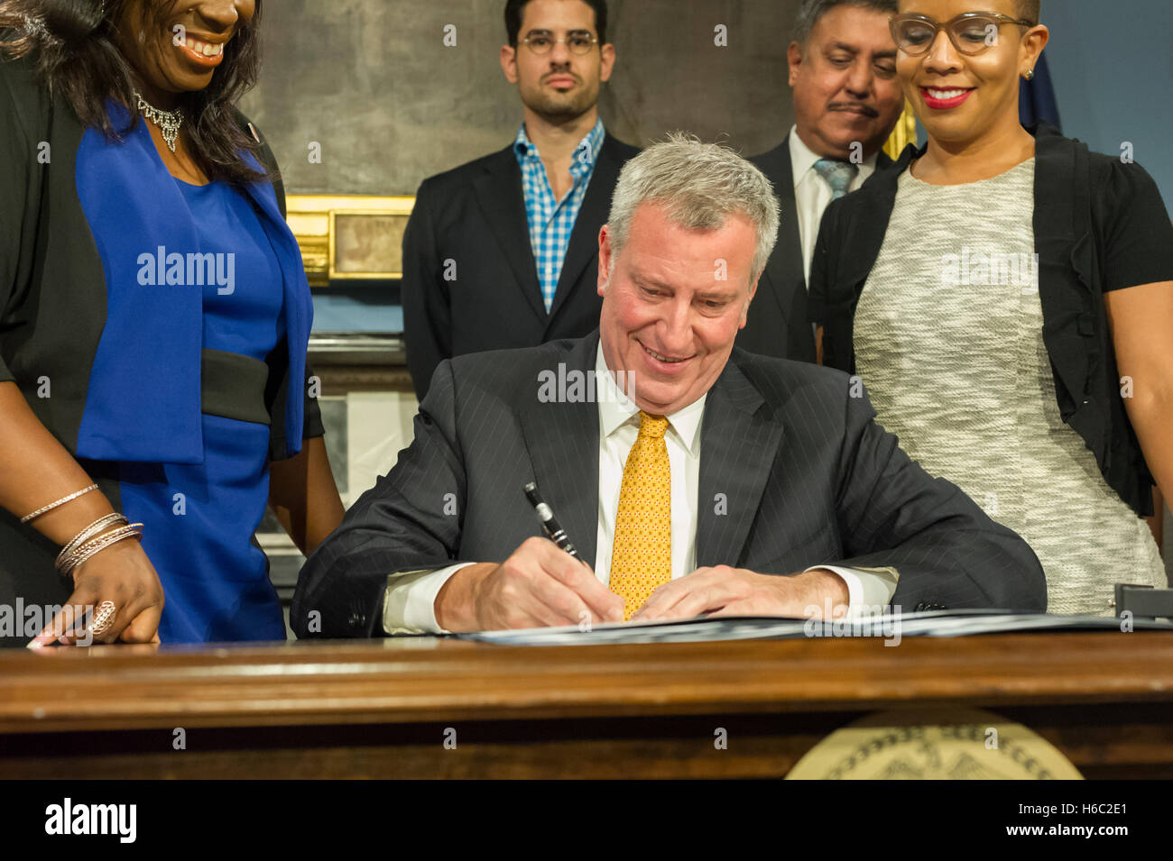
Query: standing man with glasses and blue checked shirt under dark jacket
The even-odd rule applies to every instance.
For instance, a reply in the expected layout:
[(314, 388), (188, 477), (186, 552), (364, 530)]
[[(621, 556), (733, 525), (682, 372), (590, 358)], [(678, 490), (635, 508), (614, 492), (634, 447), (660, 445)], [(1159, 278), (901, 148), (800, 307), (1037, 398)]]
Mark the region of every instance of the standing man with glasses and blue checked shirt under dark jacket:
[(581, 337), (598, 326), (598, 231), (638, 149), (598, 117), (615, 67), (605, 0), (508, 0), (514, 142), (423, 182), (404, 234), (404, 328), (416, 396), (445, 358)]

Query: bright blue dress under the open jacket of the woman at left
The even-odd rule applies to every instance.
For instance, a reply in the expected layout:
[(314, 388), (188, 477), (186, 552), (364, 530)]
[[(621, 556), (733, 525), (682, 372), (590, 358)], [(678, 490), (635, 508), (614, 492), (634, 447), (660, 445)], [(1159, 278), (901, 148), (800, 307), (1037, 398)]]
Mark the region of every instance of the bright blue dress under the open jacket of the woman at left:
[[(282, 272), (252, 204), (222, 182), (175, 180), (199, 253), (232, 254), (229, 287), (203, 287), (203, 348), (264, 360), (285, 335)], [(181, 213), (183, 214), (183, 213)], [(285, 621), (253, 539), (269, 499), (269, 425), (203, 414), (198, 464), (122, 463), (122, 511), (142, 522), (163, 585), (164, 643), (284, 640)]]

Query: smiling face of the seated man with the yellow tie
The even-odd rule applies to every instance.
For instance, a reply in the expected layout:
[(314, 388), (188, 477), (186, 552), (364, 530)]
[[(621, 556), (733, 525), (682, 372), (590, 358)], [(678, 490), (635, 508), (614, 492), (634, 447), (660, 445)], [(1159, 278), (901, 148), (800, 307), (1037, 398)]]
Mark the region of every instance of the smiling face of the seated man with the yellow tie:
[(755, 247), (753, 223), (740, 213), (717, 230), (690, 230), (657, 204), (643, 203), (618, 254), (604, 225), (603, 356), (611, 370), (629, 371), (639, 409), (676, 412), (720, 376), (758, 286), (750, 282)]

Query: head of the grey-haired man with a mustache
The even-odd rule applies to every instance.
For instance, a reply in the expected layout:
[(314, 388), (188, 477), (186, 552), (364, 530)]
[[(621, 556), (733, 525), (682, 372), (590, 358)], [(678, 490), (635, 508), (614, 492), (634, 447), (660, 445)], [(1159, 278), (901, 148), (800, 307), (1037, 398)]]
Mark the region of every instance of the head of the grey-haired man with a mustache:
[(787, 59), (795, 124), (807, 146), (841, 159), (855, 142), (865, 157), (883, 146), (904, 105), (888, 15), (836, 6), (819, 19), (806, 45), (791, 45)]

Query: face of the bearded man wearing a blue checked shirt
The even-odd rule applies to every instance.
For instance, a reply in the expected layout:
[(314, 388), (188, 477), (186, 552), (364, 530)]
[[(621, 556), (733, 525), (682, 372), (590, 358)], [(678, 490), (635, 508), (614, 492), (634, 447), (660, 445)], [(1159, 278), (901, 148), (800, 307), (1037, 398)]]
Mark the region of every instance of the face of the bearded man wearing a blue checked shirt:
[(575, 119), (595, 107), (602, 82), (611, 77), (615, 48), (594, 45), (575, 54), (560, 41), (548, 53), (535, 54), (522, 40), (567, 40), (575, 34), (598, 36), (590, 6), (582, 0), (530, 0), (522, 9), (517, 47), (501, 49), (501, 68), (517, 84), (522, 103), (551, 122)]

